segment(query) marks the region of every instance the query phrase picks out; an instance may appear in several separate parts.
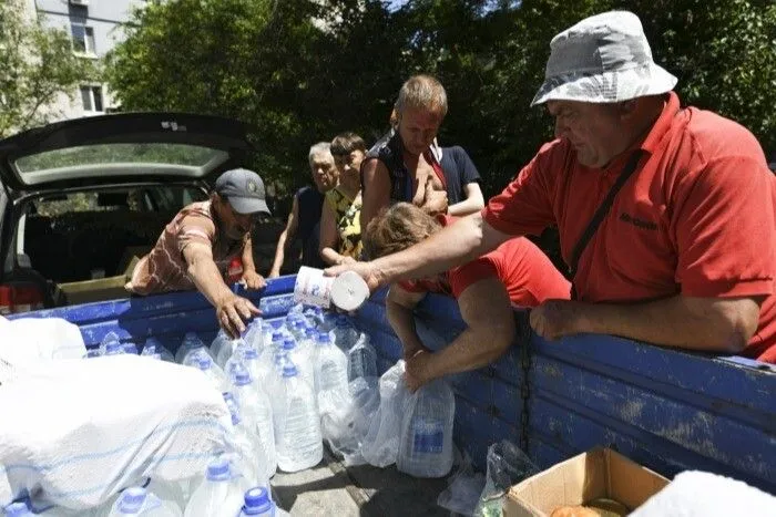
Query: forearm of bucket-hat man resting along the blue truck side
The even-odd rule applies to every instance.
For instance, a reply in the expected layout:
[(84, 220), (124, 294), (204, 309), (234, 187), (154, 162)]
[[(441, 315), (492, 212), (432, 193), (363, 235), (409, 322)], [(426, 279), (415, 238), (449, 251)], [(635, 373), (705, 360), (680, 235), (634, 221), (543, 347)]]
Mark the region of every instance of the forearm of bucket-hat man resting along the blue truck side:
[(574, 319), (579, 332), (620, 335), (691, 350), (737, 353), (756, 331), (758, 313), (754, 300), (734, 302), (678, 294), (637, 304), (580, 303), (580, 318)]

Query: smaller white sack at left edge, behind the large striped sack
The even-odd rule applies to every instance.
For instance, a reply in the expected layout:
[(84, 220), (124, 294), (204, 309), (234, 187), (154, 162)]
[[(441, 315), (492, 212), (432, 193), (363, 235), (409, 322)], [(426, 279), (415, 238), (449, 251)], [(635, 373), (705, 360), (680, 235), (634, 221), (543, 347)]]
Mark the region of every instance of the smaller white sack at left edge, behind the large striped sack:
[(78, 325), (61, 318), (0, 316), (0, 383), (7, 384), (29, 368), (60, 359), (86, 355)]

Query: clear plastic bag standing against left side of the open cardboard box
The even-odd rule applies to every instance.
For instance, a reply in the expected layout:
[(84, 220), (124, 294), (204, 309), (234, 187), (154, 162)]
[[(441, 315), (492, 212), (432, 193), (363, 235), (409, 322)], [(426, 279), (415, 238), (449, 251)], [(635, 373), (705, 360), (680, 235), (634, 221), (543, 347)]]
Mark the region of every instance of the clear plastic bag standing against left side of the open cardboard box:
[(501, 516), (503, 498), (509, 487), (539, 472), (539, 467), (512, 442), (502, 440), (492, 444), (488, 447), (486, 486), (477, 504), (474, 516)]

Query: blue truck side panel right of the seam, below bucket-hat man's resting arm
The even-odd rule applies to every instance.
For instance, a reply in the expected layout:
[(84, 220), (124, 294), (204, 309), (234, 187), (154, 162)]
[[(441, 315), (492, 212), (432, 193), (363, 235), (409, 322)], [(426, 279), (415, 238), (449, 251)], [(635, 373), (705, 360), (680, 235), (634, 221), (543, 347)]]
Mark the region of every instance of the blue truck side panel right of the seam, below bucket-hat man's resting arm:
[(688, 468), (776, 493), (776, 374), (606, 335), (532, 338), (531, 457), (611, 445), (666, 476)]

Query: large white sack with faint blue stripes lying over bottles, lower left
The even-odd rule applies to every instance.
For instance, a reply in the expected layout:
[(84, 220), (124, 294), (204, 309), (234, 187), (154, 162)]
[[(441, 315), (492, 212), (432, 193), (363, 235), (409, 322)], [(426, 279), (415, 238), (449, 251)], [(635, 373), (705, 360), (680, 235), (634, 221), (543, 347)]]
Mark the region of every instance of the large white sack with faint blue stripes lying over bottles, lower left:
[(0, 505), (94, 507), (204, 472), (232, 422), (202, 372), (137, 355), (42, 364), (0, 389)]

